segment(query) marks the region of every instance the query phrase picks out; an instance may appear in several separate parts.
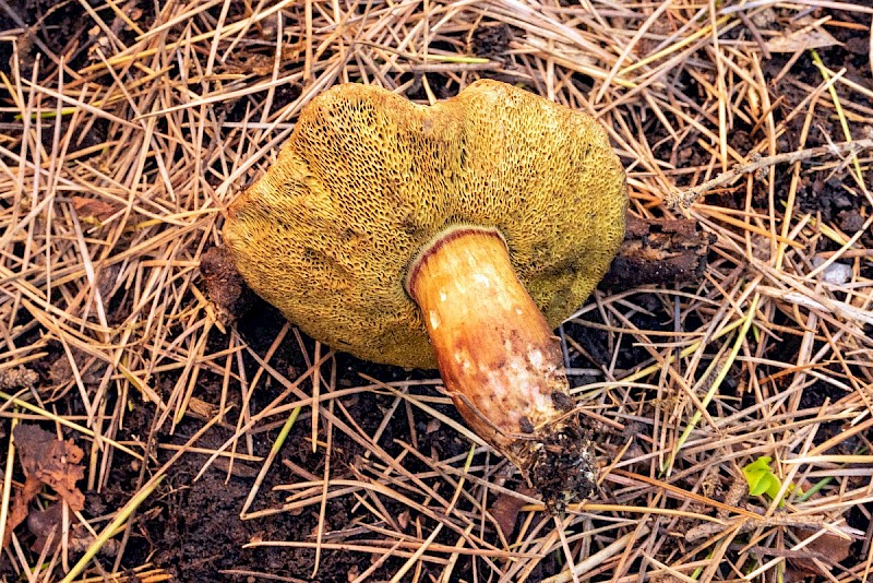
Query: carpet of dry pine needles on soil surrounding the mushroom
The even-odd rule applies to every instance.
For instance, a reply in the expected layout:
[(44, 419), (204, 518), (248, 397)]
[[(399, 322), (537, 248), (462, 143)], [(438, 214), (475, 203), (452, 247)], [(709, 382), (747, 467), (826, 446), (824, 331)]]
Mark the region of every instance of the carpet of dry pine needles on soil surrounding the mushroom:
[[(871, 29), (813, 0), (0, 0), (0, 579), (869, 581)], [(231, 324), (199, 270), (320, 92), (483, 76), (597, 116), (631, 212), (715, 239), (696, 283), (565, 323), (602, 472), (563, 521), (433, 372), (263, 304)], [(84, 451), (86, 502), (7, 532), (19, 423)]]

